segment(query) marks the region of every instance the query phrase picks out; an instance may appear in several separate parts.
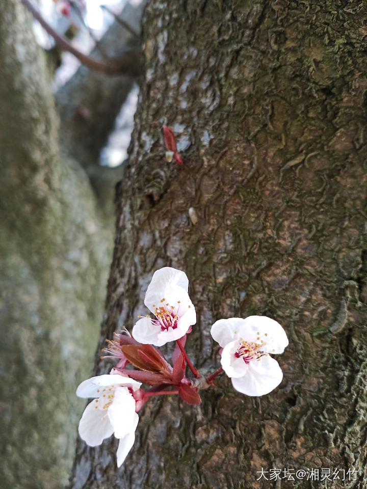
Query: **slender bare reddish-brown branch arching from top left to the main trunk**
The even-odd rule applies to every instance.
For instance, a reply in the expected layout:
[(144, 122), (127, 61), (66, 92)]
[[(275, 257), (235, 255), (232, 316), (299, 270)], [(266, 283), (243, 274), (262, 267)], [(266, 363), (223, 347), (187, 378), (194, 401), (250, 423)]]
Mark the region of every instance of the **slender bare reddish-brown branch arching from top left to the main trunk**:
[(133, 76), (137, 76), (140, 72), (140, 67), (136, 61), (136, 53), (133, 51), (124, 53), (124, 56), (121, 59), (117, 60), (109, 60), (107, 62), (100, 62), (98, 60), (94, 60), (89, 56), (85, 55), (74, 46), (70, 44), (70, 42), (64, 37), (58, 34), (53, 27), (51, 27), (42, 15), (38, 12), (38, 10), (31, 4), (29, 0), (21, 0), (22, 4), (25, 8), (27, 8), (33, 15), (33, 17), (38, 20), (38, 22), (42, 25), (43, 29), (55, 39), (55, 42), (65, 51), (71, 52), (76, 59), (78, 59), (82, 64), (90, 68), (91, 70), (101, 71), (102, 73), (106, 73), (109, 75), (116, 73), (125, 73)]

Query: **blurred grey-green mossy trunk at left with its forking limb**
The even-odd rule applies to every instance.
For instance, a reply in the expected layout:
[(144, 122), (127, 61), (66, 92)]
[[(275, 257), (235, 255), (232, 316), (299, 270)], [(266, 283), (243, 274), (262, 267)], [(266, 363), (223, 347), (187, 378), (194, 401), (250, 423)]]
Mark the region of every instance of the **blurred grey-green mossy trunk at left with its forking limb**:
[[(111, 30), (116, 54), (126, 36)], [(51, 79), (20, 0), (2, 2), (0, 59), (0, 486), (56, 489), (70, 475), (84, 405), (75, 388), (91, 371), (112, 256), (121, 170), (99, 167), (98, 150), (133, 80), (81, 68), (58, 94), (59, 143)]]

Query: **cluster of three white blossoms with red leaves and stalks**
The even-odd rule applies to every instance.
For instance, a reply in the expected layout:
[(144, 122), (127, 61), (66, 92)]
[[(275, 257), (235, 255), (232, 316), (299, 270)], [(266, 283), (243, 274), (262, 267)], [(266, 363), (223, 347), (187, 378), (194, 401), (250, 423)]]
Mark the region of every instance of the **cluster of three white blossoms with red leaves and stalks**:
[[(188, 290), (183, 271), (156, 270), (144, 298), (153, 317), (140, 316), (131, 335), (127, 330), (115, 333), (105, 349), (108, 355), (102, 358), (118, 359), (116, 367), (110, 374), (87, 379), (76, 390), (79, 397), (94, 398), (79, 423), (81, 438), (94, 447), (114, 434), (119, 440), (118, 467), (134, 444), (137, 413), (149, 397), (177, 394), (189, 404), (199, 404), (199, 389), (211, 386), (223, 371), (234, 389), (248, 396), (268, 394), (282, 380), (281, 368), (270, 355), (282, 353), (288, 339), (281, 325), (266, 316), (216, 321), (211, 335), (221, 347), (221, 367), (202, 377), (185, 350), (187, 335), (196, 323)], [(176, 341), (172, 364), (156, 348), (171, 341)], [(195, 378), (186, 376), (187, 366)], [(150, 388), (141, 389), (142, 383)]]

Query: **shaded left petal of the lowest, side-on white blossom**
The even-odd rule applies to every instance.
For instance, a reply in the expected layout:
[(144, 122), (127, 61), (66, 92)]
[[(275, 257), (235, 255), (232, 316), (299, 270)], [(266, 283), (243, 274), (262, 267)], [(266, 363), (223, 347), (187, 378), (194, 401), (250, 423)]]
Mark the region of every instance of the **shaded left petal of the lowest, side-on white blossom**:
[(87, 405), (78, 426), (80, 437), (90, 447), (100, 445), (114, 432), (107, 410), (98, 409), (97, 404), (98, 401), (94, 400)]

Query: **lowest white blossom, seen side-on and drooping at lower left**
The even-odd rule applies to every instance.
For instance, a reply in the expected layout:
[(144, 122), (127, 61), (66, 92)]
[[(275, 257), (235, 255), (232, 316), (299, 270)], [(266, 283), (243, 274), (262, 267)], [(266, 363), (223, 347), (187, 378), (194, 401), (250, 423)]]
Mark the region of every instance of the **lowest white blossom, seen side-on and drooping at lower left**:
[(140, 386), (140, 382), (122, 375), (99, 375), (88, 378), (76, 390), (79, 397), (95, 398), (87, 405), (79, 422), (81, 438), (95, 447), (114, 434), (119, 439), (118, 467), (134, 445), (139, 416), (132, 392)]

